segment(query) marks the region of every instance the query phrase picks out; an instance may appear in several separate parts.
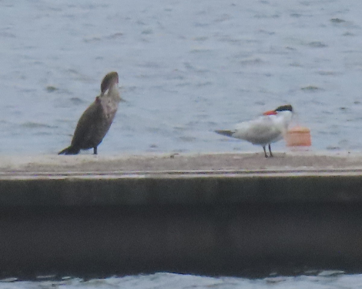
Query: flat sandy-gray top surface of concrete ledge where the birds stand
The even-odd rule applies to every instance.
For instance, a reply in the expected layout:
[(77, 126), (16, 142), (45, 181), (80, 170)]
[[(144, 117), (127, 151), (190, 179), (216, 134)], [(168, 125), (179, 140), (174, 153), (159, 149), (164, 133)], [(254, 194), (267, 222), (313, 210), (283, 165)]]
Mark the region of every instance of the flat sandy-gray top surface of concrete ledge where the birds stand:
[(264, 171), (289, 169), (353, 169), (362, 167), (362, 154), (339, 152), (247, 154), (143, 154), (75, 156), (2, 156), (0, 173), (88, 173), (138, 171)]

